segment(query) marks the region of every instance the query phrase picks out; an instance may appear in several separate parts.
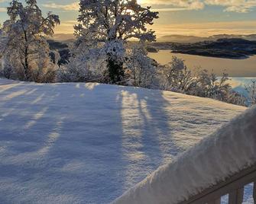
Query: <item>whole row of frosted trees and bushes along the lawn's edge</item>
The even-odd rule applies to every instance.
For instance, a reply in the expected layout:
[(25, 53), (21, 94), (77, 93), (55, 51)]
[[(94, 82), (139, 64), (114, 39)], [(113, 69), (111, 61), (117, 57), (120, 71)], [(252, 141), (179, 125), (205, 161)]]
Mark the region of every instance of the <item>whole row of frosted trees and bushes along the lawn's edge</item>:
[[(146, 42), (156, 39), (153, 24), (158, 13), (134, 0), (81, 0), (76, 42), (69, 61), (60, 65), (60, 55), (50, 50), (47, 37), (60, 24), (49, 12), (43, 16), (37, 1), (25, 5), (11, 1), (9, 16), (0, 30), (0, 75), (39, 83), (100, 82), (141, 88), (177, 91), (210, 97), (231, 104), (256, 104), (255, 84), (247, 88), (250, 100), (232, 90), (228, 75), (221, 78), (198, 69), (193, 74), (182, 59), (173, 57), (159, 65), (147, 56)], [(136, 40), (137, 43), (129, 43)]]

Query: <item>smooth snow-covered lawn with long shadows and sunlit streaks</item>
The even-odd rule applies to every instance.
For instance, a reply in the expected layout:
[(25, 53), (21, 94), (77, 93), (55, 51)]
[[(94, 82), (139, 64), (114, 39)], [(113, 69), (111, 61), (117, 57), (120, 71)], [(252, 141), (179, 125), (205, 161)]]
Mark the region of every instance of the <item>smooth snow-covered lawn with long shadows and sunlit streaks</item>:
[[(244, 110), (169, 91), (0, 79), (0, 203), (112, 202)], [(212, 157), (229, 148), (221, 153)], [(196, 171), (196, 160), (183, 165)]]

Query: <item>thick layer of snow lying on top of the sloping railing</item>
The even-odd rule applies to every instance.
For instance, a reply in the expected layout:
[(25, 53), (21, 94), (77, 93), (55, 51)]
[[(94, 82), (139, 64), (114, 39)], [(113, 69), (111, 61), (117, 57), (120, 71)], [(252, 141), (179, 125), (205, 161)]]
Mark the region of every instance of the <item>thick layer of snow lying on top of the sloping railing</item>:
[(256, 107), (166, 164), (115, 204), (176, 204), (256, 164)]

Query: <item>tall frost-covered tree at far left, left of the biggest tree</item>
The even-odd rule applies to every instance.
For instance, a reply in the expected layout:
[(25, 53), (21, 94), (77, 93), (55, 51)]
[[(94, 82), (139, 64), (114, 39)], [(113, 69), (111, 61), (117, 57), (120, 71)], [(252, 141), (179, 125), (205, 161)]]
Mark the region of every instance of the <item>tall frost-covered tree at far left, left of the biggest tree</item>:
[[(40, 78), (49, 75), (50, 50), (45, 37), (53, 34), (53, 28), (60, 24), (59, 17), (49, 12), (44, 18), (36, 0), (26, 0), (25, 5), (13, 0), (7, 13), (9, 20), (5, 21), (3, 30), (8, 43), (4, 55), (15, 56), (15, 66), (18, 67), (13, 69), (16, 69), (18, 78), (35, 81), (39, 75)], [(6, 62), (9, 63), (13, 61)]]

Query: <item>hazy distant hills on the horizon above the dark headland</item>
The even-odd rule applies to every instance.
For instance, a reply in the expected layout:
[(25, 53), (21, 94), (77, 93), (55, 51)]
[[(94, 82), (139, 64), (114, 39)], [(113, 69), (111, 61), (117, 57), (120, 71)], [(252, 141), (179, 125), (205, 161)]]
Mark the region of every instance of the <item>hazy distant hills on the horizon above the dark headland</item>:
[(196, 37), (196, 36), (185, 36), (185, 35), (167, 35), (157, 39), (158, 42), (172, 42), (172, 43), (199, 43), (202, 41), (216, 41), (219, 39), (233, 39), (240, 38), (244, 40), (256, 40), (256, 34), (251, 35), (228, 35), (219, 34), (210, 37)]

